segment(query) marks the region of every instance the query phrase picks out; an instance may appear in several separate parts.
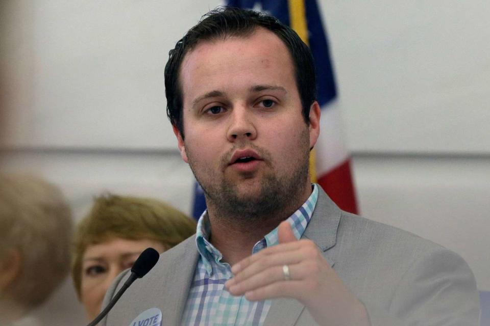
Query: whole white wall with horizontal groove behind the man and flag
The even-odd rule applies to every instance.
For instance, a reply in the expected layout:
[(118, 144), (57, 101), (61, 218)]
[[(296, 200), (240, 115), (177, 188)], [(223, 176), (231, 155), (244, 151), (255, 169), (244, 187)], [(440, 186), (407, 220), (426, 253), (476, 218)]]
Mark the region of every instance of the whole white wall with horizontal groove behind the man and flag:
[[(2, 2), (0, 167), (59, 184), (77, 219), (102, 191), (189, 212), (193, 179), (165, 116), (163, 67), (218, 3)], [(458, 252), (490, 290), (490, 6), (321, 6), (362, 213)], [(36, 314), (83, 324), (69, 284)]]

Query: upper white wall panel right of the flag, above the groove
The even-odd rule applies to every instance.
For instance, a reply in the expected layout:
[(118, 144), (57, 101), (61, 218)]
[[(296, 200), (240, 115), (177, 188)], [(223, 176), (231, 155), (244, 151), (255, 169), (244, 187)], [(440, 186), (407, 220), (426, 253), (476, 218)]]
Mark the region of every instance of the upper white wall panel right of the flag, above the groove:
[(487, 1), (323, 1), (350, 148), (490, 153)]

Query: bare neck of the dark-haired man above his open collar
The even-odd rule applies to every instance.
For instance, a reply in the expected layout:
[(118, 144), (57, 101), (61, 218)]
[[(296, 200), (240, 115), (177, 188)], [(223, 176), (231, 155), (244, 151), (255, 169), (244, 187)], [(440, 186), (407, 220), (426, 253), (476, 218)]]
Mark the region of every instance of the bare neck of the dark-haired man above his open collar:
[(298, 210), (310, 195), (311, 186), (308, 186), (303, 195), (298, 196), (298, 200), (289, 203), (281, 211), (254, 216), (253, 221), (248, 221), (248, 216), (223, 216), (212, 204), (208, 205), (210, 241), (222, 253), (223, 260), (234, 265), (250, 256), (255, 244)]

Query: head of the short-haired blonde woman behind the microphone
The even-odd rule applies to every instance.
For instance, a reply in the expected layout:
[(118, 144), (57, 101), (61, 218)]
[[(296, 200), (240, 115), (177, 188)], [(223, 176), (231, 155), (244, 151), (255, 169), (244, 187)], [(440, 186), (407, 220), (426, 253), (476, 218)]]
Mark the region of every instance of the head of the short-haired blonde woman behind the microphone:
[(87, 316), (101, 311), (114, 278), (152, 247), (162, 253), (195, 233), (196, 223), (170, 205), (150, 198), (95, 198), (75, 232), (71, 275)]

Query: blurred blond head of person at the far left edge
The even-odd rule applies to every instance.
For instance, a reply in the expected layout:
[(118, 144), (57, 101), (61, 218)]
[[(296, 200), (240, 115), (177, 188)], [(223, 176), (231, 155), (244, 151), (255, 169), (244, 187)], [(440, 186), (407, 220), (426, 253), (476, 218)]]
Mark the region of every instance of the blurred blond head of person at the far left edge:
[(22, 317), (64, 280), (71, 226), (70, 208), (55, 185), (0, 173), (0, 321)]

